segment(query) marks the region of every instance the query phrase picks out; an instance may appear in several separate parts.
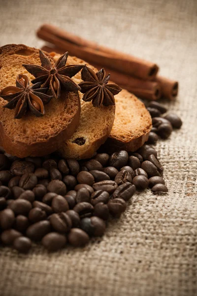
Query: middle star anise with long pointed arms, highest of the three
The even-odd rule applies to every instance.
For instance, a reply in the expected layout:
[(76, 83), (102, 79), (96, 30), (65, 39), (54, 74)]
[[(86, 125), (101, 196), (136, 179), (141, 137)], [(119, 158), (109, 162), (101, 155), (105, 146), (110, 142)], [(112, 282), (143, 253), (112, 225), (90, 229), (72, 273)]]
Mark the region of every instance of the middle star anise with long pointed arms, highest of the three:
[(61, 95), (61, 87), (63, 86), (67, 91), (80, 90), (80, 87), (71, 79), (72, 76), (77, 74), (84, 65), (66, 65), (68, 52), (62, 55), (55, 66), (52, 66), (48, 57), (40, 50), (41, 66), (23, 64), (25, 69), (33, 74), (35, 79), (32, 83), (41, 82), (42, 87), (51, 88), (53, 97), (58, 99)]

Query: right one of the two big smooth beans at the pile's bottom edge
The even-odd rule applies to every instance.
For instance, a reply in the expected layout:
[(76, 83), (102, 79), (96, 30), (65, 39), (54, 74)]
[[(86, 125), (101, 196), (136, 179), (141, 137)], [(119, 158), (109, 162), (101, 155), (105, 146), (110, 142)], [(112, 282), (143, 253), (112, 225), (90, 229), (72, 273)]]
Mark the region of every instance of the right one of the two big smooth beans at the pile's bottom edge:
[(72, 228), (68, 234), (68, 241), (74, 247), (84, 247), (89, 240), (88, 234), (80, 228)]

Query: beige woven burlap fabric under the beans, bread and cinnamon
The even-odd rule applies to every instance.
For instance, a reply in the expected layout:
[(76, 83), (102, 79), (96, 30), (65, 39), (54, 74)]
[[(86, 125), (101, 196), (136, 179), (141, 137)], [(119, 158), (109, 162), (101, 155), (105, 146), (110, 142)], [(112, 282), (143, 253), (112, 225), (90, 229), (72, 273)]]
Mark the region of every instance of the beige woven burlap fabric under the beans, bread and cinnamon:
[(197, 295), (197, 1), (0, 0), (0, 45), (41, 46), (43, 22), (158, 63), (180, 82), (165, 105), (184, 124), (157, 145), (167, 196), (135, 194), (84, 249), (0, 248), (0, 295)]

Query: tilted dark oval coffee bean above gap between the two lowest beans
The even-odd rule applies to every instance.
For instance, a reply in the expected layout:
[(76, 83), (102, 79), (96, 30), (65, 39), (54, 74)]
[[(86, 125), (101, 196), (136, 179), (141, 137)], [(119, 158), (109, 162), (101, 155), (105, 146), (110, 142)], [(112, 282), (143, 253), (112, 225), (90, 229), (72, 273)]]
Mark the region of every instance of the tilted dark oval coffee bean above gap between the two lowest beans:
[(47, 220), (42, 220), (30, 225), (26, 231), (26, 234), (30, 239), (39, 241), (50, 231), (50, 222)]

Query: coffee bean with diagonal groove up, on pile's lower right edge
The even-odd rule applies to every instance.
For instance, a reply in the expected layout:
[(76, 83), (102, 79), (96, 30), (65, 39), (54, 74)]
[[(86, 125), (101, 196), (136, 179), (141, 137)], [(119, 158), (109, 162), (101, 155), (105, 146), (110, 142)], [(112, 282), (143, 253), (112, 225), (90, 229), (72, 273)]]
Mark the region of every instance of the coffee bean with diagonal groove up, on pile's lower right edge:
[(132, 185), (131, 183), (124, 183), (118, 186), (118, 188), (116, 188), (111, 198), (112, 199), (122, 198), (125, 201), (128, 201), (133, 196), (134, 193), (135, 193), (135, 186)]

